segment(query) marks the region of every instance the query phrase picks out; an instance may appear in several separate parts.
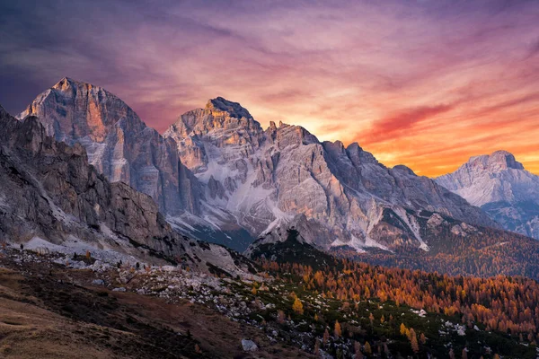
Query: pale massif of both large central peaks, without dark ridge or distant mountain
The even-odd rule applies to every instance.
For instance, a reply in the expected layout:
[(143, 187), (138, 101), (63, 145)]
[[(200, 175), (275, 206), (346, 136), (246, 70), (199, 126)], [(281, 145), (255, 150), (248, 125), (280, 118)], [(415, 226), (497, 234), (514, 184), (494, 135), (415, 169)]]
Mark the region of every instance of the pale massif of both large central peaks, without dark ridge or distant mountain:
[(263, 129), (220, 97), (160, 136), (115, 95), (64, 78), (18, 118), (29, 115), (57, 141), (82, 144), (111, 182), (154, 198), (176, 230), (235, 250), (279, 226), (300, 228), (324, 250), (429, 250), (421, 211), (498, 226), (435, 180), (387, 168), (356, 143), (321, 142), (284, 123)]

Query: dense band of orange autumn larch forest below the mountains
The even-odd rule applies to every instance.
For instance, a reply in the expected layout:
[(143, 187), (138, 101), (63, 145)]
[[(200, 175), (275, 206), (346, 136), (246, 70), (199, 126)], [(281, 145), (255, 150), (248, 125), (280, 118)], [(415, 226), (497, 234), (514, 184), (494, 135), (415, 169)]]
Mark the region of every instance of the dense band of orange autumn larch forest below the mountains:
[[(525, 277), (447, 276), (348, 259), (342, 259), (340, 266), (317, 271), (290, 263), (262, 261), (261, 265), (266, 270), (299, 276), (306, 289), (340, 301), (378, 298), (429, 312), (459, 315), (469, 325), (479, 322), (488, 330), (523, 333), (528, 337), (535, 337), (539, 327), (539, 285)], [(297, 298), (295, 311), (296, 302)], [(402, 334), (409, 330), (401, 326)], [(531, 333), (534, 335), (530, 336)], [(414, 333), (411, 345), (415, 349), (418, 342), (424, 341), (424, 337), (418, 340)]]

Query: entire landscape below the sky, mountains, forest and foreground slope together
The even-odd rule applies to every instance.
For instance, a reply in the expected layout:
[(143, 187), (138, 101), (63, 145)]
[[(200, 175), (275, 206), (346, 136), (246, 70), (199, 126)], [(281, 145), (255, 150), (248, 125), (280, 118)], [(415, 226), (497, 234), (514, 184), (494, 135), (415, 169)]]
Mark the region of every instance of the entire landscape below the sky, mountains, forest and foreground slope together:
[(65, 78), (0, 106), (0, 183), (2, 354), (536, 356), (537, 177), (507, 152), (433, 180), (221, 97), (160, 135)]

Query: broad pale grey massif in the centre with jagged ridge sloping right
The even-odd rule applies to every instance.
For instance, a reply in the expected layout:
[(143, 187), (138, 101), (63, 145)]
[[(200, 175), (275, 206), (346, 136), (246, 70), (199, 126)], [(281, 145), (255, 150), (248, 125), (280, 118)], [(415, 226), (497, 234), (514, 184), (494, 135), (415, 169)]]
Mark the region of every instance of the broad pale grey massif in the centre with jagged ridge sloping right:
[(404, 166), (384, 167), (358, 144), (320, 142), (303, 127), (262, 130), (239, 103), (216, 98), (187, 112), (164, 135), (205, 186), (213, 223), (239, 223), (253, 235), (295, 226), (324, 249), (392, 250), (422, 241), (422, 210), (496, 225), (434, 180)]

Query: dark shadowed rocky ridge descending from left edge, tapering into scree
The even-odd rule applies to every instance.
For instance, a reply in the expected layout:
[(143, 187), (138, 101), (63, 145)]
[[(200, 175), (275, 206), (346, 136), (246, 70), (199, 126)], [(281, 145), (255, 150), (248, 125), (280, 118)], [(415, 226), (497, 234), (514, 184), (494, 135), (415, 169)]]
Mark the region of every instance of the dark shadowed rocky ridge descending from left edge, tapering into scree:
[(0, 241), (231, 276), (252, 269), (237, 253), (174, 232), (152, 197), (110, 183), (81, 144), (57, 142), (38, 118), (20, 121), (0, 106), (0, 125)]

